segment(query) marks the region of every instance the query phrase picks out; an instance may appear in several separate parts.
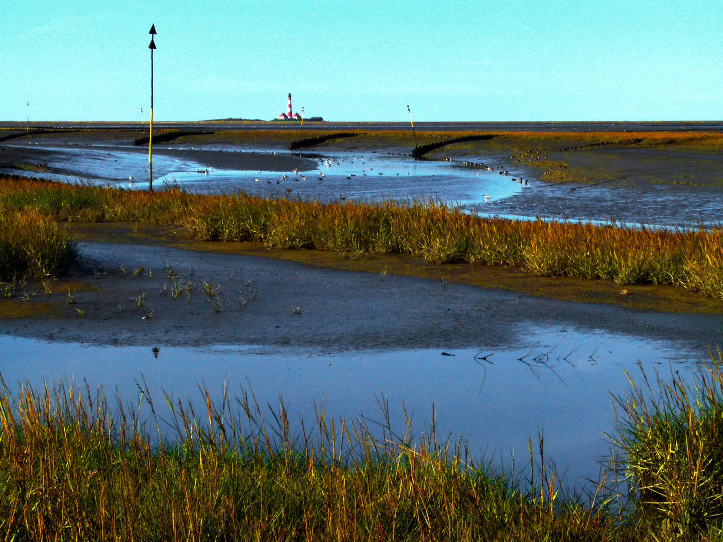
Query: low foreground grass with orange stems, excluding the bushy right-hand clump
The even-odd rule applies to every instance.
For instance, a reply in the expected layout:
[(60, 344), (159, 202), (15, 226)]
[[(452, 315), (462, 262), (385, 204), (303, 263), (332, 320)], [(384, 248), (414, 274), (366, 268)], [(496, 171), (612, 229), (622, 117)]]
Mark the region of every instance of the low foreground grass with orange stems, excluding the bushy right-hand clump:
[[(515, 480), (465, 449), (242, 395), (161, 411), (102, 392), (0, 392), (0, 536), (73, 541), (635, 540), (554, 479)], [(146, 416), (146, 414), (148, 416)], [(267, 423), (268, 416), (272, 423)], [(539, 470), (537, 471), (539, 475)], [(538, 480), (540, 479), (537, 476)]]

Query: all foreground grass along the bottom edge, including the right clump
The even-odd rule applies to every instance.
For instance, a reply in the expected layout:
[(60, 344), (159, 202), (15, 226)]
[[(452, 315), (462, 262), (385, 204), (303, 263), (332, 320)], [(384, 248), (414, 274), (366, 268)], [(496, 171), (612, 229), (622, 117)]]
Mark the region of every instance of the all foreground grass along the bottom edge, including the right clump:
[[(138, 403), (61, 386), (0, 390), (0, 534), (25, 540), (709, 540), (723, 470), (716, 366), (621, 399), (618, 463), (584, 496), (544, 439), (493, 467), (431, 426), (315, 419), (253, 396)], [(626, 479), (615, 483), (612, 473)], [(612, 483), (612, 485), (609, 485)], [(624, 489), (623, 494), (618, 493)]]

